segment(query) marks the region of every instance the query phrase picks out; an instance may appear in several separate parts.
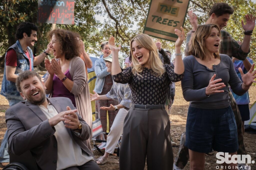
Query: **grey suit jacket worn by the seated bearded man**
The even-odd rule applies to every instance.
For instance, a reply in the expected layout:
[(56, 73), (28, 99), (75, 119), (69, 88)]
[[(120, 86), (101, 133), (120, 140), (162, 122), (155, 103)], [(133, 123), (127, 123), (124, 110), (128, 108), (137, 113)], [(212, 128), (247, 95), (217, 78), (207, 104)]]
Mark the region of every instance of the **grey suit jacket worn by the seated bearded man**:
[[(58, 113), (66, 111), (66, 107), (75, 109), (68, 98), (47, 98)], [(85, 142), (90, 137), (89, 125), (77, 113), (82, 123), (82, 132), (78, 136), (73, 130), (67, 128), (69, 135), (81, 147), (82, 151), (93, 156)], [(53, 135), (55, 128), (51, 127), (47, 117), (38, 107), (28, 101), (20, 102), (10, 107), (5, 112), (8, 144), (11, 152), (20, 155), (28, 150), (34, 156), (37, 165), (41, 169), (56, 169), (57, 167), (57, 140)], [(69, 146), (65, 146), (69, 147)], [(61, 149), (61, 148), (59, 148)]]

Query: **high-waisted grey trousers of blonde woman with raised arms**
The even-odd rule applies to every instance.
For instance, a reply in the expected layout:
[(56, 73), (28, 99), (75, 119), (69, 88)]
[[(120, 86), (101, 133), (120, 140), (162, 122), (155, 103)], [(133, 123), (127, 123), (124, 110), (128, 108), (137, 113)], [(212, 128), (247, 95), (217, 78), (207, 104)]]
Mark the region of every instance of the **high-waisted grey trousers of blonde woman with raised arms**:
[(130, 108), (124, 119), (120, 170), (173, 169), (170, 120), (165, 108)]

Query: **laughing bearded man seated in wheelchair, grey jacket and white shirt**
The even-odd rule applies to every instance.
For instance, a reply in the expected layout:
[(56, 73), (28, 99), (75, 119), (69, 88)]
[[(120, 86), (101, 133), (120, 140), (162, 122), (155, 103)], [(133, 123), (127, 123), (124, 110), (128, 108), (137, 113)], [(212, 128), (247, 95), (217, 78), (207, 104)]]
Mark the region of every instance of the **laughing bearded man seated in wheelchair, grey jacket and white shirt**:
[(16, 86), (27, 101), (5, 113), (10, 152), (30, 151), (39, 169), (100, 169), (85, 144), (90, 127), (70, 99), (46, 98), (46, 87), (34, 71), (22, 72)]

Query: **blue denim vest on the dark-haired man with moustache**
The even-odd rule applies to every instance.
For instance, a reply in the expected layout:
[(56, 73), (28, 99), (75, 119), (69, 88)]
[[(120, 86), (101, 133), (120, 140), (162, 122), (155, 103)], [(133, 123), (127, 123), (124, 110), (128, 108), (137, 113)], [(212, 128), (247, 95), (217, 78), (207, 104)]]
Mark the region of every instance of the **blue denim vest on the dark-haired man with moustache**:
[[(31, 66), (32, 66), (32, 70), (34, 70), (33, 68), (33, 53), (32, 50), (27, 47), (27, 50), (29, 52), (29, 56), (27, 56), (21, 45), (19, 40), (16, 41), (15, 44), (13, 44), (12, 46), (10, 46), (8, 48), (8, 50), (10, 49), (14, 49), (16, 54), (17, 54), (17, 67), (15, 70), (15, 74), (18, 76), (21, 72), (29, 70), (29, 59), (28, 57), (30, 57), (31, 60)], [(7, 50), (7, 51), (8, 51)], [(7, 52), (5, 53), (5, 55), (7, 54)], [(1, 95), (5, 96), (7, 99), (16, 99), (16, 100), (23, 100), (23, 98), (20, 96), (19, 91), (16, 88), (16, 85), (14, 82), (12, 81), (8, 81), (6, 79), (6, 60), (5, 60), (5, 64), (4, 64), (4, 77), (3, 77), (3, 82), (2, 82), (2, 88), (1, 88)]]

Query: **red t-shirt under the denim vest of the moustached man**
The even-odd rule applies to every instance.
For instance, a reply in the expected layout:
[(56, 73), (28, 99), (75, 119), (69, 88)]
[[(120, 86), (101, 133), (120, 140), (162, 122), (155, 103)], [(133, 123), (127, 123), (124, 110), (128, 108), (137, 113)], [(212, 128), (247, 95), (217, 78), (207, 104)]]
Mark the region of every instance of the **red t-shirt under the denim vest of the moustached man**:
[[(32, 70), (32, 66), (31, 66), (31, 60), (29, 57), (29, 52), (27, 50), (27, 52), (25, 52), (25, 54), (28, 56), (29, 59), (29, 70)], [(33, 60), (34, 60), (34, 55), (33, 55)], [(7, 66), (15, 66), (17, 67), (17, 54), (16, 51), (14, 49), (10, 49), (7, 51), (7, 54), (5, 56), (5, 60), (6, 60), (6, 65)]]

